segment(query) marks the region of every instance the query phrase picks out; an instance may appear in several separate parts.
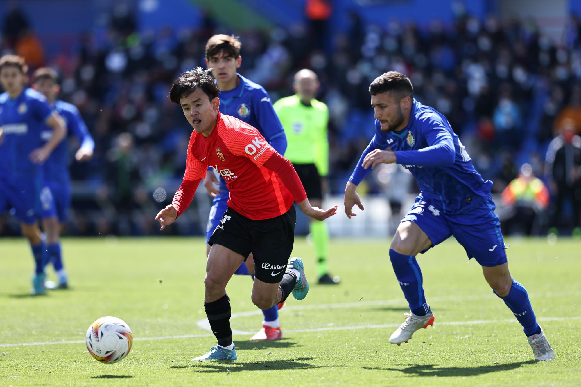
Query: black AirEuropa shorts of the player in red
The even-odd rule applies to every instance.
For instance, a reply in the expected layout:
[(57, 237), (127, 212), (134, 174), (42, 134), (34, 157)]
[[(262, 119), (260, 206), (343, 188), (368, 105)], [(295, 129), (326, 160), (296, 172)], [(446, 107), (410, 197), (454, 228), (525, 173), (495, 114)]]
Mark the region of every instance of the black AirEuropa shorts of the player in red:
[(286, 264), (295, 243), (296, 210), (276, 218), (252, 220), (228, 207), (208, 244), (223, 245), (244, 256), (254, 255), (254, 276), (276, 284), (285, 274)]

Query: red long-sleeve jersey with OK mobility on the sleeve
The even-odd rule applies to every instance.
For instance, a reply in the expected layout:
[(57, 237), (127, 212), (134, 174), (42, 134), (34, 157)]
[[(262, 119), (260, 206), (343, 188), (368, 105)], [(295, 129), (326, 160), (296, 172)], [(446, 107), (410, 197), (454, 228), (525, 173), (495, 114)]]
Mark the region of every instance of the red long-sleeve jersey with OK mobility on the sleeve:
[(218, 113), (209, 136), (193, 131), (189, 139), (184, 180), (173, 200), (178, 215), (191, 203), (208, 167), (224, 177), (228, 207), (249, 219), (275, 218), (307, 197), (292, 164), (257, 129)]

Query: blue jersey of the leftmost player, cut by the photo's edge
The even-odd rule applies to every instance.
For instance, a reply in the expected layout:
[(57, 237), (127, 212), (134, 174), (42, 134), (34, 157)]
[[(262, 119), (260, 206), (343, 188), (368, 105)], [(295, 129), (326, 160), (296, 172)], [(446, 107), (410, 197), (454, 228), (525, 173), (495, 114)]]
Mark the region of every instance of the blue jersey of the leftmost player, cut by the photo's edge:
[(0, 126), (4, 138), (0, 145), (0, 176), (12, 181), (35, 179), (41, 166), (28, 158), (43, 145), (41, 132), (52, 108), (46, 98), (33, 89), (24, 89), (16, 98), (0, 95)]

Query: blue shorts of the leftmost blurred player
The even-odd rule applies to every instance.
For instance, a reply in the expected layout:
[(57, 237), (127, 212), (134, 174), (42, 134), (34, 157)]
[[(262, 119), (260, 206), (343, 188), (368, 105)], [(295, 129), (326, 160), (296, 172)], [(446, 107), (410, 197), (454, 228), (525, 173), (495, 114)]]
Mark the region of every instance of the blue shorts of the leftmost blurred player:
[(56, 216), (51, 189), (40, 177), (16, 182), (0, 177), (0, 211), (7, 208), (14, 208), (16, 218), (27, 225)]

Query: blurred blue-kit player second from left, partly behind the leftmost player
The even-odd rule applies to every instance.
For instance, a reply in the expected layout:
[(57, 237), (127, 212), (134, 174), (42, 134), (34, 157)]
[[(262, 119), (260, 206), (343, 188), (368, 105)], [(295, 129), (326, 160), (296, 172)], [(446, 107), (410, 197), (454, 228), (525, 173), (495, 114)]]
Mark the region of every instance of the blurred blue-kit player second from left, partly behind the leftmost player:
[[(48, 67), (39, 68), (33, 75), (33, 88), (41, 92), (48, 100), (49, 106), (54, 108), (63, 118), (67, 125), (67, 132), (74, 135), (81, 146), (75, 154), (77, 161), (87, 161), (93, 155), (95, 142), (93, 141), (87, 125), (78, 109), (70, 103), (57, 100), (56, 96), (60, 91), (58, 84), (58, 74), (55, 70)], [(46, 127), (42, 131), (43, 141), (48, 141), (52, 137), (52, 131)], [(59, 225), (50, 225), (45, 228), (46, 234), (46, 251), (48, 252), (49, 262), (55, 268), (57, 283), (50, 285), (59, 289), (69, 287), (67, 273), (64, 270), (62, 261), (62, 251), (60, 248), (60, 232), (64, 229), (64, 223), (69, 215), (71, 202), (71, 189), (69, 177), (69, 143), (64, 140), (51, 153), (51, 157), (44, 163), (45, 179), (55, 202), (56, 214), (59, 219)], [(48, 282), (47, 282), (48, 283)], [(47, 284), (47, 287), (49, 285)]]

